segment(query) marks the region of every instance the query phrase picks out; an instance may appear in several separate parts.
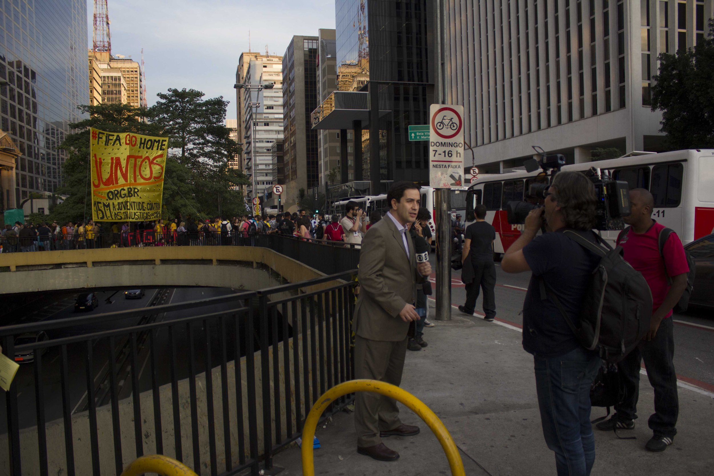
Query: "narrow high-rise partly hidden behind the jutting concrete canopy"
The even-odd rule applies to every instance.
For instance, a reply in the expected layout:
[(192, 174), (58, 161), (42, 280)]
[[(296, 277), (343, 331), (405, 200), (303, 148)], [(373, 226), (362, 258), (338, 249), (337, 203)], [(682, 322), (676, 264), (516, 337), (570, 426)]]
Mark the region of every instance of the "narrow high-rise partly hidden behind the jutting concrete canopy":
[[(337, 52), (335, 31), (320, 29), (318, 33), (317, 88), (318, 103), (325, 101), (337, 91)], [(319, 161), (318, 184), (340, 183), (340, 131), (321, 129), (317, 131)], [(347, 133), (348, 139), (352, 134)], [(352, 146), (348, 146), (348, 162), (352, 161)], [(349, 173), (353, 173), (350, 171)]]

